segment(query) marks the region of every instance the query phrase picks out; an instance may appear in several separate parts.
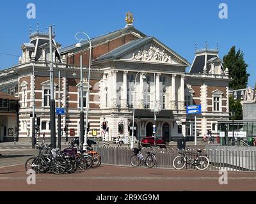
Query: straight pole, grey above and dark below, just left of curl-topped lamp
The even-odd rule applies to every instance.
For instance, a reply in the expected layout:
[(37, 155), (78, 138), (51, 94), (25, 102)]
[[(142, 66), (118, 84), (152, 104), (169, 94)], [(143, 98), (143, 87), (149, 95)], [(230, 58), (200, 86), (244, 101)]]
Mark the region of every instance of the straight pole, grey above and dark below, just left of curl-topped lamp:
[[(80, 55), (80, 148), (84, 143), (84, 87), (83, 87), (83, 56)], [(87, 99), (86, 99), (87, 100)]]

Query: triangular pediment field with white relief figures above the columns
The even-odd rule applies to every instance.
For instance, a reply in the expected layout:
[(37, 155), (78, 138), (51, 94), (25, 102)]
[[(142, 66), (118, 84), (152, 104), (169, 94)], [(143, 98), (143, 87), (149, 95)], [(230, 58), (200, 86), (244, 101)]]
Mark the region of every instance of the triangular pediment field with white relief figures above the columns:
[(120, 57), (122, 60), (134, 62), (155, 62), (163, 64), (186, 64), (181, 57), (177, 56), (175, 52), (164, 47), (157, 41), (152, 40), (149, 43), (134, 48), (132, 52)]

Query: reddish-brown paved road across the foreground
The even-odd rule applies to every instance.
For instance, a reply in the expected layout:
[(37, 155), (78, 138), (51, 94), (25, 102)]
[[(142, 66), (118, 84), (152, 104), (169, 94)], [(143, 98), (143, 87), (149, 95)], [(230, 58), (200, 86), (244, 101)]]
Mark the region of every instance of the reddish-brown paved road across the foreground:
[(228, 185), (220, 185), (219, 177), (218, 171), (102, 165), (71, 175), (36, 175), (31, 186), (22, 164), (0, 168), (0, 191), (256, 191), (255, 173), (228, 173)]

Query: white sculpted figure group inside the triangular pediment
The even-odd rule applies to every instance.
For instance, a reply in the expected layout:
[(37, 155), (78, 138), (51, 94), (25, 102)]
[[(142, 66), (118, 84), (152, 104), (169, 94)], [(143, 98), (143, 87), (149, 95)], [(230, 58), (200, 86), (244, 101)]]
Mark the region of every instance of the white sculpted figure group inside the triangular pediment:
[(139, 51), (138, 54), (132, 54), (131, 60), (136, 61), (152, 61), (172, 63), (172, 57), (159, 48), (150, 47), (148, 50)]

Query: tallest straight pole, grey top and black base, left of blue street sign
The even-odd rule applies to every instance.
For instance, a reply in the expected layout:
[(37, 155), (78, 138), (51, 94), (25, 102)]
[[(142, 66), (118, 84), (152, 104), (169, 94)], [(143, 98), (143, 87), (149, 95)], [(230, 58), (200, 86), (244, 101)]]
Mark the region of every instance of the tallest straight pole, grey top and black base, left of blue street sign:
[(49, 26), (50, 34), (50, 82), (51, 82), (51, 104), (50, 104), (50, 124), (51, 124), (51, 147), (56, 149), (56, 122), (55, 122), (55, 99), (54, 99), (54, 75), (53, 75), (53, 64), (52, 64), (52, 27)]

